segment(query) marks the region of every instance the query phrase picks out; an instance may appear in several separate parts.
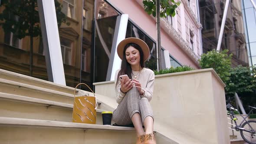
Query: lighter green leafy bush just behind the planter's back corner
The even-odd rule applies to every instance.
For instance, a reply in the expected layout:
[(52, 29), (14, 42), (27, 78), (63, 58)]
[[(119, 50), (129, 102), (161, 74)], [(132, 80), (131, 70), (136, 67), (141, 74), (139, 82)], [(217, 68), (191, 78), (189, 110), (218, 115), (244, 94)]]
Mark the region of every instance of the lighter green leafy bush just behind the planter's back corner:
[(200, 67), (202, 69), (213, 68), (220, 76), (224, 83), (230, 80), (231, 58), (232, 54), (227, 54), (225, 49), (217, 52), (215, 49), (201, 55)]

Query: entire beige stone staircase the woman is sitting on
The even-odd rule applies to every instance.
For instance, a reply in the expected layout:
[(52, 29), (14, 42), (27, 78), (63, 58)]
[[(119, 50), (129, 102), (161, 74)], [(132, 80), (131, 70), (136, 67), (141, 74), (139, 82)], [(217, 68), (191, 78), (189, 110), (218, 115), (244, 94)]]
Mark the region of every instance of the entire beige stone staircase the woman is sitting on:
[[(73, 92), (68, 86), (0, 69), (0, 144), (135, 143), (135, 128), (102, 125), (101, 112), (117, 105), (103, 95), (96, 94), (96, 124), (71, 122)], [(76, 91), (81, 93), (90, 92)], [(177, 144), (158, 132), (156, 138), (158, 144)]]

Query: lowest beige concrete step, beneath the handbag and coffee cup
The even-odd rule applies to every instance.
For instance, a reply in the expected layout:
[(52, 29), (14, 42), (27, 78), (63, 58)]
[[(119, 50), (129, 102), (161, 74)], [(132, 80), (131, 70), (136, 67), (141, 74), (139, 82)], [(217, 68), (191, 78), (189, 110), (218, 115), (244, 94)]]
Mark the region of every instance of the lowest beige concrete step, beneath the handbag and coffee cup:
[[(174, 144), (155, 134), (158, 144)], [(135, 128), (0, 117), (1, 144), (134, 144)]]

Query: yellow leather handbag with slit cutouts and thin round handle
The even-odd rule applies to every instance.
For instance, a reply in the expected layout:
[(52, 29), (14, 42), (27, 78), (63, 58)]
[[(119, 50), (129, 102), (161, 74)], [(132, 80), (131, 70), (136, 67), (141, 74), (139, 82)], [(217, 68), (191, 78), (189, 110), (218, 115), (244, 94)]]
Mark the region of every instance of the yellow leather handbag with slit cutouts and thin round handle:
[[(79, 83), (78, 85), (76, 85), (75, 90), (79, 85), (86, 85), (86, 84)], [(86, 86), (89, 88), (88, 85)], [(92, 91), (91, 88), (89, 89)], [(74, 90), (74, 106), (73, 106), (72, 122), (95, 124), (96, 108), (98, 107), (95, 93), (92, 91), (94, 96), (90, 96), (89, 94), (76, 96), (75, 90)]]

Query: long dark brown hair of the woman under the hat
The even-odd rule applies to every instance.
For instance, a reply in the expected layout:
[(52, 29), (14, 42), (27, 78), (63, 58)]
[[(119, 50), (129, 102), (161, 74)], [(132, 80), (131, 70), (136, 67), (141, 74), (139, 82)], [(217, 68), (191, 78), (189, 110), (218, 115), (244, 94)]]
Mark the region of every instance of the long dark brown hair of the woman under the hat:
[(128, 75), (128, 77), (131, 79), (131, 72), (132, 72), (131, 65), (127, 62), (126, 55), (125, 55), (125, 51), (129, 46), (132, 46), (132, 47), (134, 47), (135, 49), (137, 49), (139, 51), (139, 53), (140, 53), (140, 66), (142, 68), (144, 68), (144, 61), (143, 61), (144, 53), (143, 53), (141, 47), (139, 45), (137, 45), (136, 43), (128, 43), (127, 45), (125, 45), (125, 48), (124, 48), (124, 51), (123, 51), (123, 59), (122, 59), (122, 63), (121, 63), (121, 69), (118, 72), (116, 85), (117, 85), (117, 82), (119, 80), (120, 75)]

